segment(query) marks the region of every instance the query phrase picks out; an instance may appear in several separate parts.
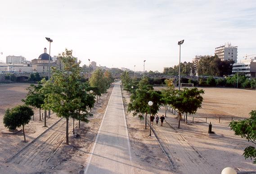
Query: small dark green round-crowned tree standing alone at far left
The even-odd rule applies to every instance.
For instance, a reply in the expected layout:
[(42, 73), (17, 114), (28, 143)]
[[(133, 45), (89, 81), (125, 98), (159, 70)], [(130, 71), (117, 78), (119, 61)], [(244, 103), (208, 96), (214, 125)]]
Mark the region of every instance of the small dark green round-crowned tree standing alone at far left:
[(4, 115), (4, 127), (9, 129), (16, 129), (22, 126), (24, 142), (26, 142), (24, 125), (27, 125), (33, 116), (33, 110), (25, 105), (18, 105), (13, 107), (11, 110), (7, 109)]

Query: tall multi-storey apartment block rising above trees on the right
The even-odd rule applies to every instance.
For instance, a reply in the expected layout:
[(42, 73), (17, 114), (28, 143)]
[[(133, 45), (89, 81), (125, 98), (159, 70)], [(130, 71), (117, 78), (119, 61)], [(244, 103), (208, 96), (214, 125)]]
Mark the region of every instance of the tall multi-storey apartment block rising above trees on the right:
[(232, 46), (231, 44), (227, 43), (220, 47), (215, 48), (214, 52), (221, 61), (224, 60), (234, 60), (237, 62), (237, 54), (238, 54), (238, 47)]

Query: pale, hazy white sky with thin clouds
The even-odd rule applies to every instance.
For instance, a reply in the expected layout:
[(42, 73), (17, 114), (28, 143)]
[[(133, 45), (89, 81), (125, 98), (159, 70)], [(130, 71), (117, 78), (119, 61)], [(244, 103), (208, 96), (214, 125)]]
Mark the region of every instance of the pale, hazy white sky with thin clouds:
[(72, 49), (88, 65), (163, 71), (229, 42), (256, 54), (256, 0), (0, 0), (0, 61)]

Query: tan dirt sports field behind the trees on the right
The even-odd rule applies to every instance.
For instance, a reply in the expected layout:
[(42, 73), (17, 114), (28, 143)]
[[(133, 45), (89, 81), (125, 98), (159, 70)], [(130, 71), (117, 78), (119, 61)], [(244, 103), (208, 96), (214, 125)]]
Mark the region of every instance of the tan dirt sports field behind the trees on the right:
[[(162, 90), (164, 87), (154, 87)], [(249, 117), (256, 110), (256, 90), (233, 88), (199, 88), (205, 91), (198, 117)], [(231, 118), (229, 119), (231, 120)]]

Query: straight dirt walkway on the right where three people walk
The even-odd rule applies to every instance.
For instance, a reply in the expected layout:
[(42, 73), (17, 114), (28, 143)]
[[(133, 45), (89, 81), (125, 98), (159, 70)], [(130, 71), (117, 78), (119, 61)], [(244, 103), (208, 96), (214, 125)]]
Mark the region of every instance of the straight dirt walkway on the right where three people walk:
[[(165, 109), (162, 108), (164, 111)], [(162, 111), (163, 111), (162, 110)], [(164, 112), (159, 112), (159, 116)], [(170, 114), (168, 114), (170, 115)], [(178, 130), (171, 128), (167, 123), (171, 123), (173, 127), (177, 127), (177, 124), (171, 122), (170, 117), (166, 117), (163, 126), (155, 125), (154, 121), (153, 129), (155, 129), (160, 142), (163, 144), (165, 151), (171, 156), (171, 160), (174, 162), (176, 173), (182, 174), (214, 174), (216, 173), (215, 167), (213, 167), (205, 157), (179, 133)], [(149, 120), (148, 120), (149, 121)], [(176, 123), (178, 121), (176, 120)]]

